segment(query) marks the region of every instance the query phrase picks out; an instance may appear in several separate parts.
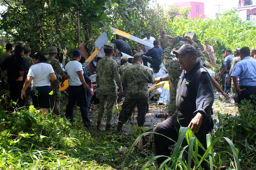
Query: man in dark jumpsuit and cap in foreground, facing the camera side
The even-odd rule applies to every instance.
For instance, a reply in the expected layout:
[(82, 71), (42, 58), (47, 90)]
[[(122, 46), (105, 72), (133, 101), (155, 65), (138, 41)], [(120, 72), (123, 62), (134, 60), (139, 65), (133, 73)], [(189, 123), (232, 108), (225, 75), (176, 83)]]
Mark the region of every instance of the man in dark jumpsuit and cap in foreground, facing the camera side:
[[(177, 112), (164, 122), (158, 124), (154, 132), (163, 134), (175, 142), (178, 140), (180, 126), (190, 127), (195, 136), (206, 148), (206, 134), (213, 128), (211, 110), (214, 101), (214, 93), (211, 78), (206, 69), (196, 60), (197, 52), (192, 45), (182, 45), (173, 52), (178, 58), (182, 71), (176, 93)], [(179, 122), (177, 121), (177, 117)], [(180, 123), (180, 124), (179, 124)], [(169, 146), (175, 142), (168, 138), (154, 134), (156, 155), (170, 156)], [(183, 146), (187, 144), (184, 143)], [(199, 154), (204, 151), (199, 148)], [(187, 155), (184, 155), (186, 159)], [(166, 157), (157, 158), (160, 165)], [(202, 168), (209, 169), (206, 162), (201, 163)]]

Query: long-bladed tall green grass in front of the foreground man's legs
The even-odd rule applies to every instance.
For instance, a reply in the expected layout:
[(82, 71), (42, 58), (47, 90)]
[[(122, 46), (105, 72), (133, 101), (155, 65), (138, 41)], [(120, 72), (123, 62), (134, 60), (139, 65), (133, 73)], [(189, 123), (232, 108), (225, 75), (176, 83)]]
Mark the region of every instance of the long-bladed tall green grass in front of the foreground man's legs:
[[(145, 132), (140, 134), (136, 140), (133, 142), (133, 145), (130, 148), (130, 151), (127, 153), (126, 158), (122, 164), (122, 170), (126, 169), (125, 167), (125, 161), (126, 159), (129, 157), (129, 154), (131, 153), (132, 149), (135, 147), (135, 144), (140, 140), (141, 137), (143, 137), (144, 135), (147, 135), (148, 133), (154, 133), (154, 132)], [(158, 134), (158, 133), (156, 133)], [(161, 134), (159, 134), (161, 135)], [(166, 137), (168, 138), (168, 137)], [(232, 152), (227, 152), (230, 155), (230, 160), (233, 160), (233, 165), (234, 167), (229, 168), (229, 169), (234, 169), (234, 170), (241, 170), (240, 168), (240, 162), (238, 159), (238, 150), (237, 148), (235, 148), (233, 142), (227, 138), (227, 137), (218, 137), (214, 140), (212, 140), (211, 135), (208, 134), (206, 136), (206, 140), (207, 140), (207, 149), (205, 149), (202, 144), (199, 142), (199, 140), (195, 137), (195, 135), (192, 133), (191, 128), (187, 128), (187, 127), (181, 127), (180, 131), (179, 131), (179, 137), (178, 137), (178, 141), (175, 145), (175, 149), (172, 153), (172, 155), (169, 156), (165, 156), (167, 159), (159, 166), (159, 170), (162, 169), (170, 169), (170, 170), (174, 170), (174, 169), (184, 169), (184, 170), (190, 170), (191, 168), (191, 160), (189, 160), (188, 162), (186, 162), (184, 160), (184, 158), (182, 158), (182, 154), (185, 151), (186, 147), (189, 147), (188, 149), (188, 157), (189, 158), (193, 158), (194, 161), (194, 165), (195, 165), (195, 169), (200, 169), (202, 170), (202, 167), (200, 166), (200, 164), (202, 163), (202, 161), (207, 161), (210, 164), (210, 168), (211, 170), (214, 169), (220, 169), (220, 160), (217, 161), (217, 158), (220, 158), (218, 153), (216, 153), (214, 155), (214, 145), (216, 144), (216, 142), (218, 142), (220, 139), (225, 139), (226, 142), (228, 143), (228, 145), (230, 146), (230, 149)], [(172, 140), (171, 138), (168, 138), (169, 140)], [(182, 142), (183, 140), (186, 140), (188, 142), (188, 145), (184, 148), (182, 148)], [(202, 148), (205, 153), (204, 155), (198, 155), (198, 148)], [(147, 167), (154, 162), (157, 158), (164, 156), (164, 155), (158, 155), (158, 156), (154, 156), (152, 157), (150, 160), (148, 160), (144, 166), (141, 168), (141, 170), (146, 170)], [(209, 159), (209, 160), (208, 160)], [(171, 162), (171, 163), (170, 163)]]

